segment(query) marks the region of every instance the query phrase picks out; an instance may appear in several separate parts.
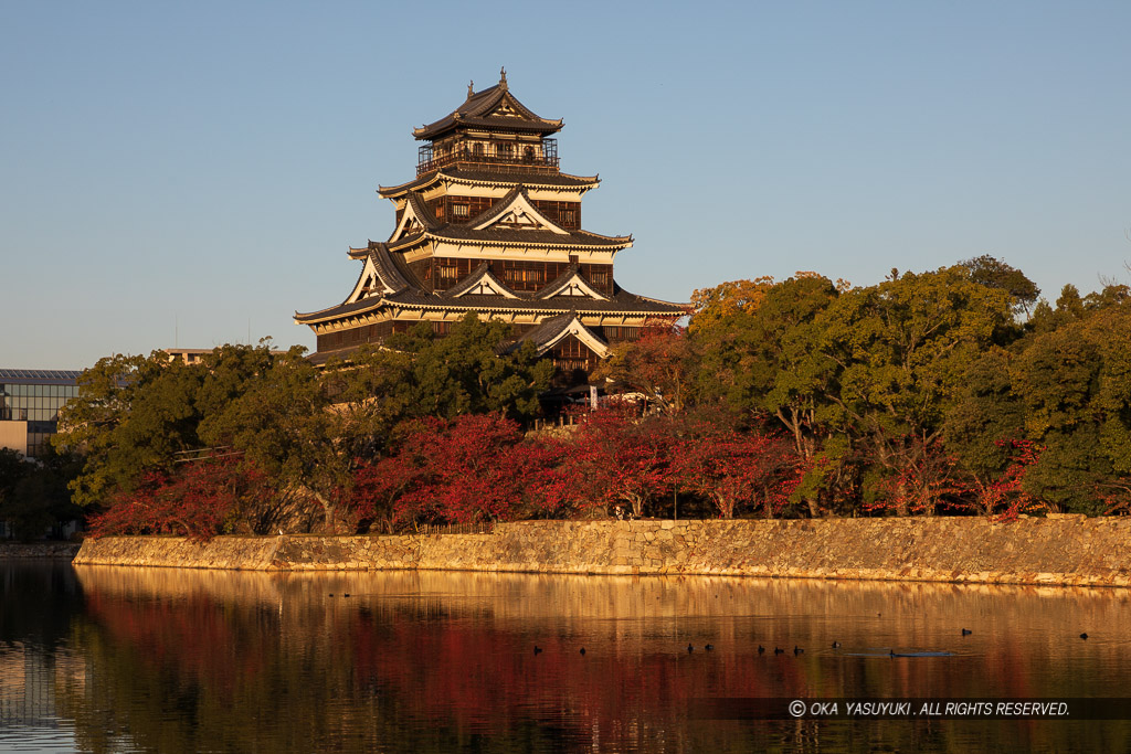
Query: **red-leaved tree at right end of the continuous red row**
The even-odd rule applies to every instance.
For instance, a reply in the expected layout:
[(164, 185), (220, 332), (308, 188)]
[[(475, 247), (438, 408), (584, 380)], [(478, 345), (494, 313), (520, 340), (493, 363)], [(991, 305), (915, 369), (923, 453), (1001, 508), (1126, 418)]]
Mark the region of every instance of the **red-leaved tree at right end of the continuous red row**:
[(726, 519), (751, 503), (760, 503), (767, 518), (778, 515), (802, 477), (791, 443), (737, 432), (681, 441), (672, 471), (680, 486), (709, 497)]

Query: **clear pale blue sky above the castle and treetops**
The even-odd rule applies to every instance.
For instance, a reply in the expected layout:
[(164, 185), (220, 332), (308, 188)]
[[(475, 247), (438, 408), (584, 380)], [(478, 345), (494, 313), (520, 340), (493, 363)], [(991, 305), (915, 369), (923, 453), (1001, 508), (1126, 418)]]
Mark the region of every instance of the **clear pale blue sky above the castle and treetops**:
[(273, 336), (392, 229), (412, 128), (498, 80), (564, 118), (625, 288), (983, 253), (1129, 281), (1131, 3), (6, 2), (0, 366)]

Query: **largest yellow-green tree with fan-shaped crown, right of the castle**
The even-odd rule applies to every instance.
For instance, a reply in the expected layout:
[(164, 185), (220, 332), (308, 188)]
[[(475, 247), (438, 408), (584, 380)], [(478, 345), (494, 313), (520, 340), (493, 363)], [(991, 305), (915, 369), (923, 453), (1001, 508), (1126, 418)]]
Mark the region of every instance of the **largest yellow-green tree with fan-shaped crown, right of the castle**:
[[(929, 457), (938, 452), (966, 372), (1011, 321), (1012, 301), (956, 266), (920, 275), (893, 270), (879, 285), (844, 293), (821, 313), (822, 353), (836, 364), (828, 393), (839, 409), (835, 422), (863, 444), (882, 476), (952, 468)], [(910, 495), (897, 489), (895, 497), (905, 513)], [(922, 508), (933, 510), (926, 501)]]

